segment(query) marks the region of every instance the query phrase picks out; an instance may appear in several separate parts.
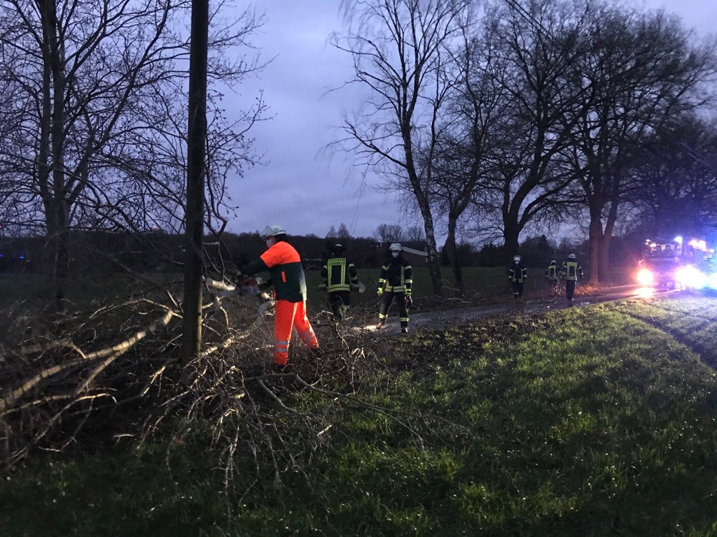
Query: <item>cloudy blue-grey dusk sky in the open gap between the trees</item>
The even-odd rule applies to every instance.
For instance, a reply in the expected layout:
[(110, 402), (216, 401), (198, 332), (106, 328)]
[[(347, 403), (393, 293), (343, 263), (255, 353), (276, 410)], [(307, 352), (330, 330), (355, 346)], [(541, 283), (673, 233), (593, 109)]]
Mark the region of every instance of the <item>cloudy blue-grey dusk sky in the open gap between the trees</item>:
[[(629, 3), (630, 0), (626, 0)], [(717, 0), (636, 0), (645, 9), (665, 9), (683, 18), (699, 35), (717, 33)], [(234, 178), (229, 194), (239, 211), (229, 231), (284, 226), (290, 235), (326, 236), (345, 223), (353, 236), (371, 236), (381, 223), (407, 222), (392, 195), (375, 185), (362, 188), (361, 177), (343, 155), (322, 151), (337, 136), (343, 112), (356, 99), (350, 92), (329, 92), (351, 78), (351, 57), (331, 47), (328, 36), (341, 31), (338, 0), (264, 0), (266, 24), (252, 39), (262, 57), (275, 57), (256, 79), (239, 89), (251, 101), (259, 89), (273, 119), (252, 128), (265, 166)], [(442, 242), (439, 239), (439, 243)]]

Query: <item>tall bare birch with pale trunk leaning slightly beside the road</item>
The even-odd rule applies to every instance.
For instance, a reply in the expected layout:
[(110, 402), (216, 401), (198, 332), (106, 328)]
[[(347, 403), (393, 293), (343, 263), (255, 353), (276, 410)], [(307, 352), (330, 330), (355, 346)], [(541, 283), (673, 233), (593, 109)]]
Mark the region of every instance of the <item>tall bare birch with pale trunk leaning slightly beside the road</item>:
[(341, 140), (363, 163), (409, 190), (424, 221), (427, 263), (435, 293), (442, 291), (435, 223), (429, 200), (432, 159), (419, 165), (422, 142), (430, 155), (437, 118), (450, 87), (443, 76), (472, 0), (343, 0), (346, 34), (333, 44), (353, 57), (355, 78), (371, 97), (356, 119), (346, 118)]

